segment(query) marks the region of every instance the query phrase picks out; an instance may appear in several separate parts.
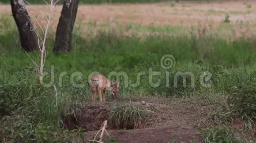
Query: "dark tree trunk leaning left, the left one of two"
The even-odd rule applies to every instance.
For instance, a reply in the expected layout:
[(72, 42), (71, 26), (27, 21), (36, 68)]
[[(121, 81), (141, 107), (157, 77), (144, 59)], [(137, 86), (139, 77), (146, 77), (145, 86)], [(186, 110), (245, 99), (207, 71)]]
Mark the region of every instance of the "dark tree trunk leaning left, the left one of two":
[(26, 11), (24, 0), (10, 0), (11, 12), (19, 30), (21, 47), (26, 52), (38, 49), (38, 38)]

